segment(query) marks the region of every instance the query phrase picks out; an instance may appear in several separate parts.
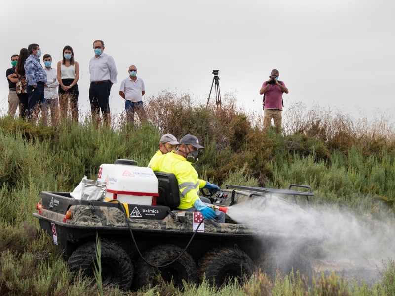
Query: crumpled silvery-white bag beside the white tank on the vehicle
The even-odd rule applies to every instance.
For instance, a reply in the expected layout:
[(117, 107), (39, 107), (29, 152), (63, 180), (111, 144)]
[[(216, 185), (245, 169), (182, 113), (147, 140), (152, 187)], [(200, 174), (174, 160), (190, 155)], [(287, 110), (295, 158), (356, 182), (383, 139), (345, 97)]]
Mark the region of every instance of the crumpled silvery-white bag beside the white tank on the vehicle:
[(74, 188), (70, 196), (74, 199), (103, 201), (106, 193), (106, 182), (86, 179), (86, 176), (83, 176), (82, 181)]

